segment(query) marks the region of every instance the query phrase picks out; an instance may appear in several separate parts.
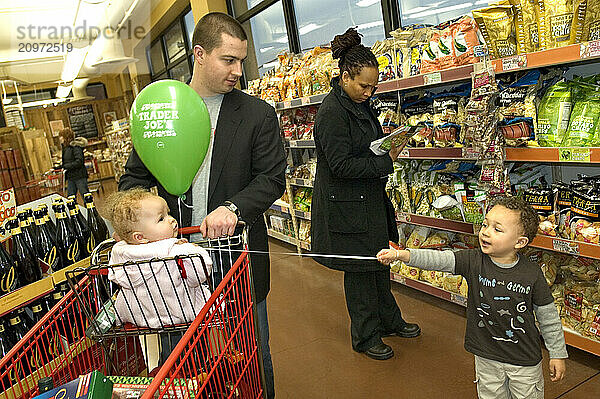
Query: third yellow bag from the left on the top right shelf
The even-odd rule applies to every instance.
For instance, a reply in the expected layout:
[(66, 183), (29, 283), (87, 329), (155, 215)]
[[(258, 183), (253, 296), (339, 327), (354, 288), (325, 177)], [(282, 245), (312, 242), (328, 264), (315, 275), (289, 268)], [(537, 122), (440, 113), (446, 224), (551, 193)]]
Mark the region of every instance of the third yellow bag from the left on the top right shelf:
[(545, 0), (545, 48), (568, 46), (581, 41), (586, 0)]

